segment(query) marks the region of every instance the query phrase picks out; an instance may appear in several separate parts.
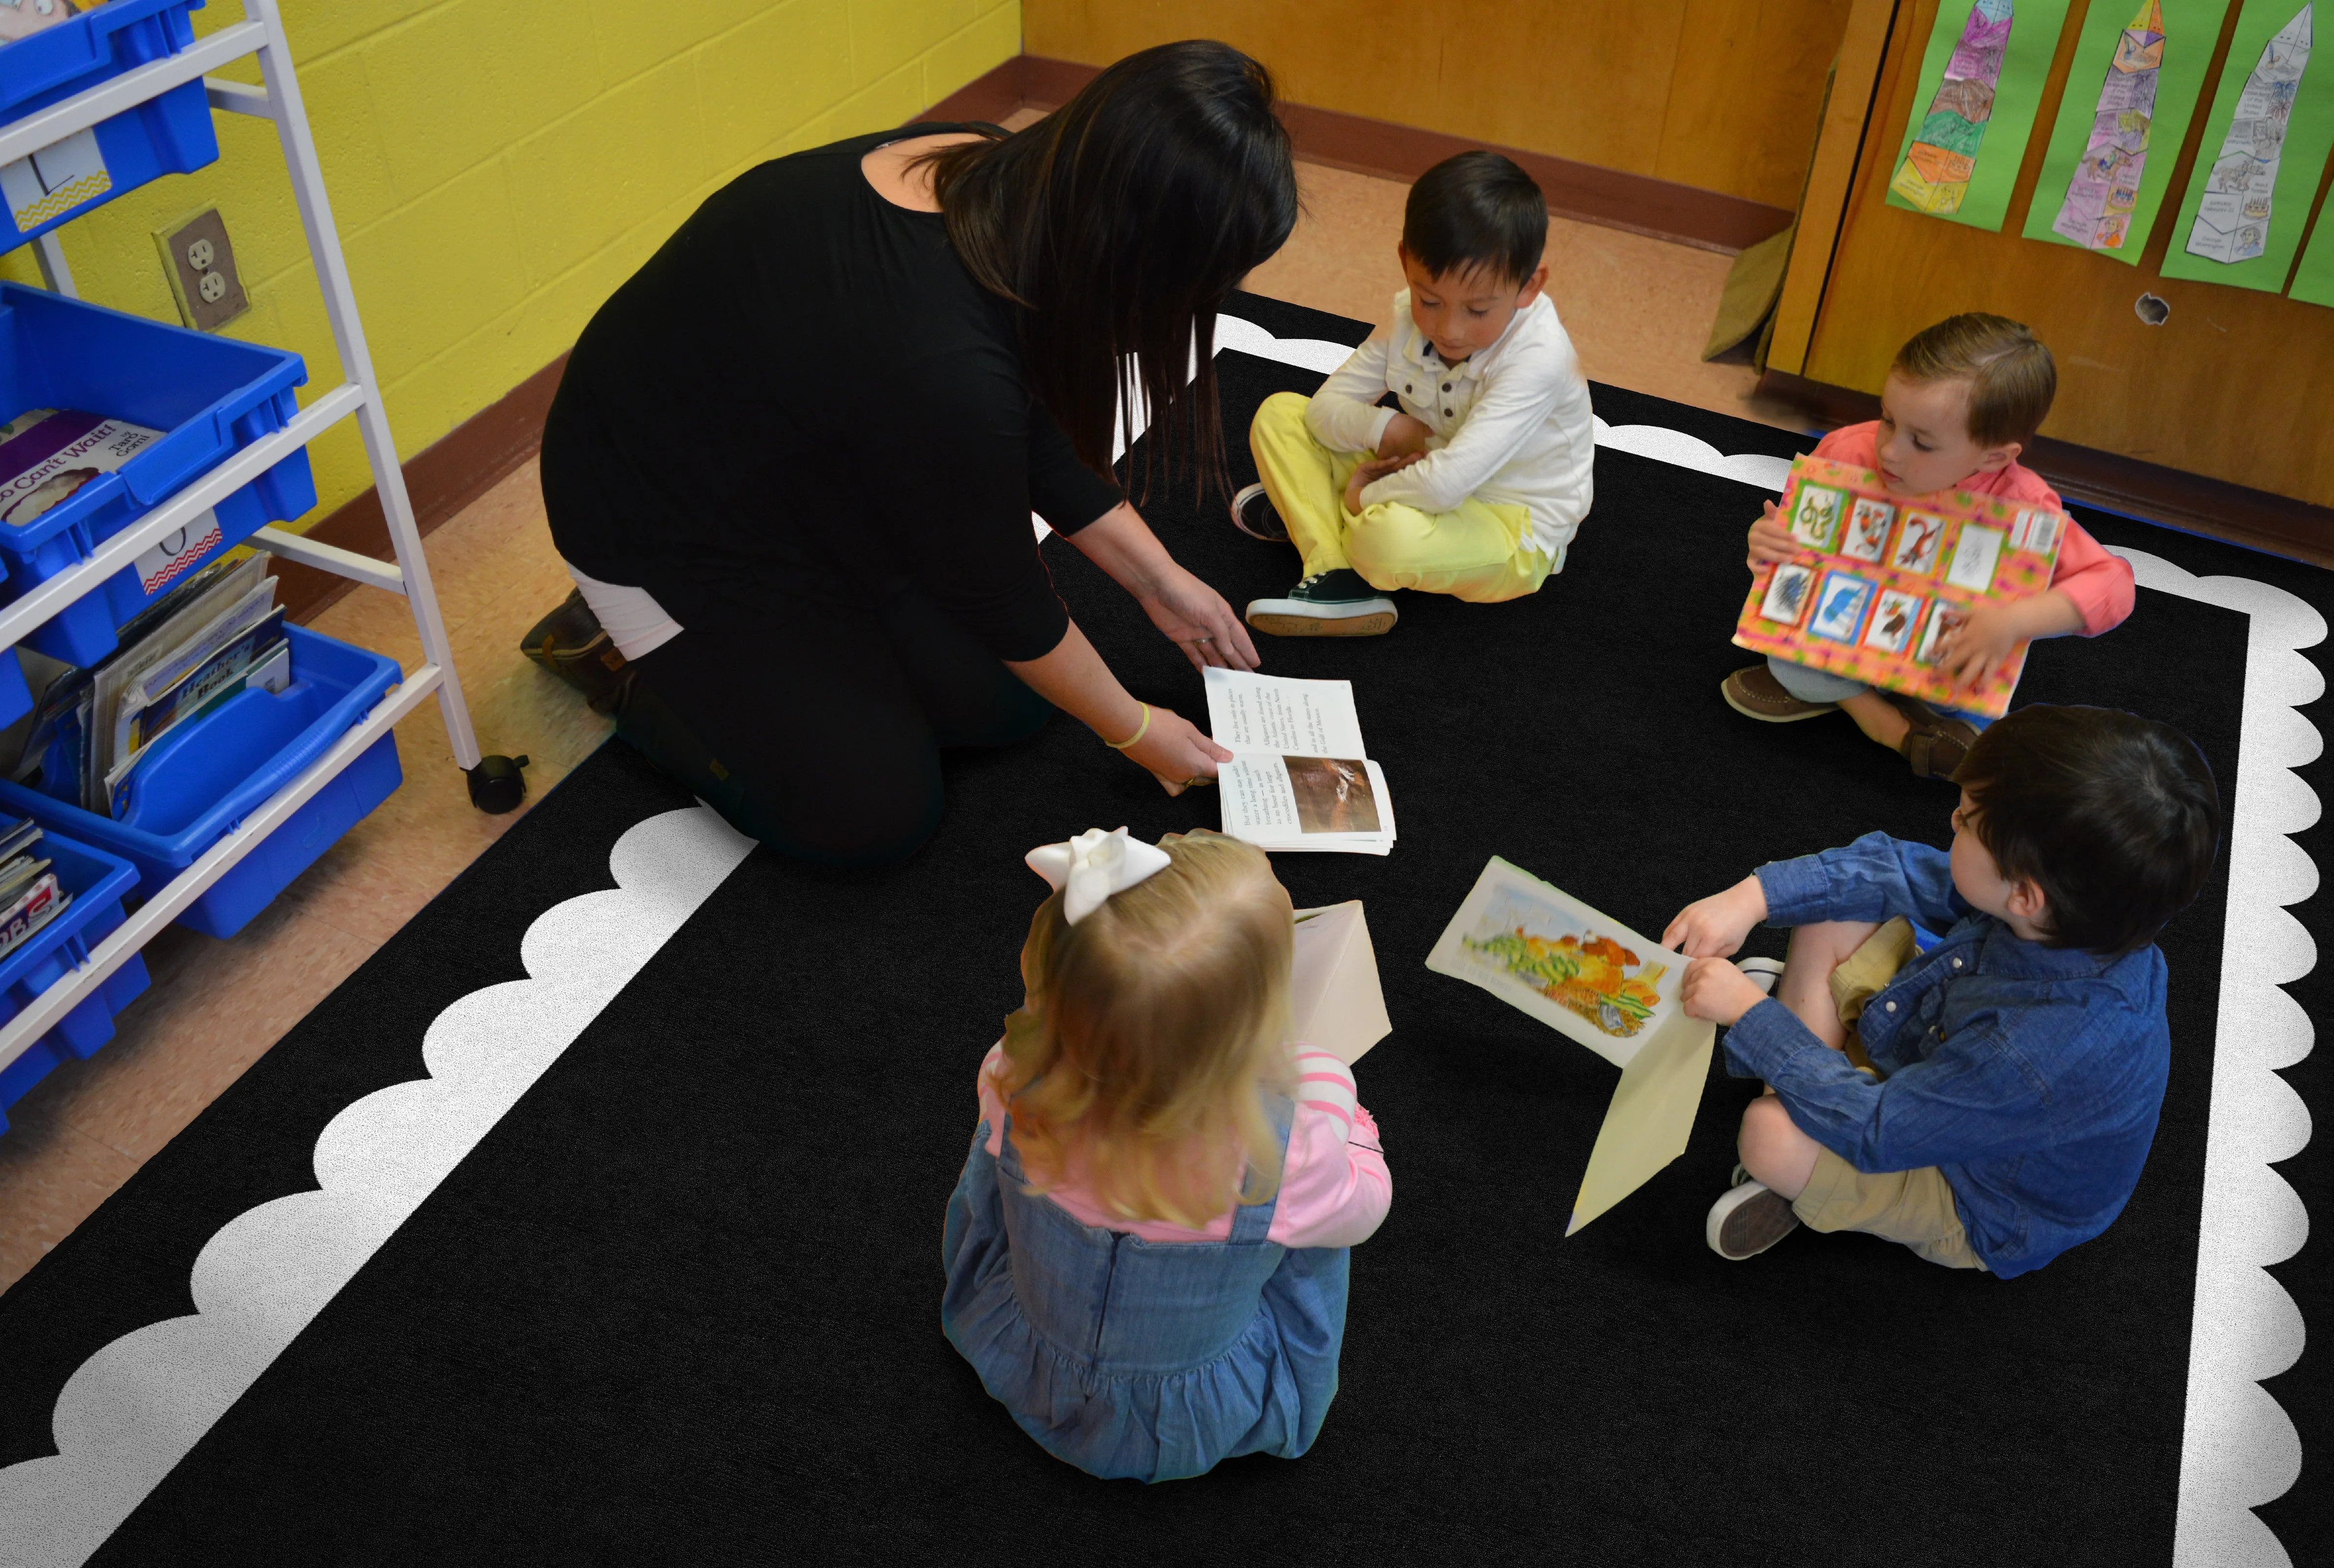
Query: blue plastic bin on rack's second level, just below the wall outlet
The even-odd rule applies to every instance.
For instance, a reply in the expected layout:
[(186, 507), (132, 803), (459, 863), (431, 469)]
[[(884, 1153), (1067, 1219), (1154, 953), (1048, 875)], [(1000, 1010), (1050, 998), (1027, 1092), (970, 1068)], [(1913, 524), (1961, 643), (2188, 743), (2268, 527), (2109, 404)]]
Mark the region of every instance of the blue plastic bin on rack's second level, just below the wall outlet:
[[(7, 567), (0, 602), (89, 560), (103, 541), (159, 502), (252, 441), (282, 429), (299, 413), (292, 387), (306, 380), (308, 366), (282, 348), (163, 327), (0, 282), (0, 420), (26, 408), (79, 408), (166, 432), (119, 471), (89, 481), (33, 523), (0, 525), (0, 562)], [(212, 509), (219, 539), (196, 560), (310, 506), (315, 474), (301, 448)], [(187, 562), (177, 579), (191, 569), (194, 562)], [(114, 651), (114, 628), (168, 588), (168, 581), (156, 581), (149, 593), (138, 567), (126, 567), (26, 642), (49, 658), (89, 667)]]

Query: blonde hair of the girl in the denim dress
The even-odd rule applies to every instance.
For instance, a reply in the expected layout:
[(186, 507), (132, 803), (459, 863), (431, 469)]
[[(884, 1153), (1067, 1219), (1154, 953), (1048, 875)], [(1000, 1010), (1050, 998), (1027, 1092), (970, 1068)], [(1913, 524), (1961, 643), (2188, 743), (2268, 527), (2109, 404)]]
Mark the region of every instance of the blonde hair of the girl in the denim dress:
[(1039, 908), (990, 1085), (1032, 1192), (1076, 1171), (1116, 1218), (1197, 1227), (1279, 1190), (1260, 1094), (1293, 1078), (1295, 924), (1263, 849), (1218, 833), (1160, 847), (1165, 870), (1076, 926), (1062, 894)]

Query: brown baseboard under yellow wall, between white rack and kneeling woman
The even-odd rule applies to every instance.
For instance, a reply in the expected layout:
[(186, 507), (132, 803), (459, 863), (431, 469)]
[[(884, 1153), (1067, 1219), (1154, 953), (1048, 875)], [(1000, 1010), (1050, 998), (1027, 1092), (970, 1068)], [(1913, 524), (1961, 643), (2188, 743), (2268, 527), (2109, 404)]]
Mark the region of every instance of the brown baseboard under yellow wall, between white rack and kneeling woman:
[[(411, 497), (413, 520), (425, 534), (534, 455), (534, 448), (544, 443), (544, 415), (551, 413), (551, 394), (560, 390), (560, 371), (565, 369), (567, 355), (560, 355), (406, 460), (406, 497)], [(390, 560), (390, 523), (380, 513), (380, 495), (366, 490), (334, 509), (308, 530), (308, 539)], [(275, 558), (275, 602), (285, 607), (287, 621), (299, 623), (324, 614), (355, 588), (345, 576), (317, 572), (280, 555)]]

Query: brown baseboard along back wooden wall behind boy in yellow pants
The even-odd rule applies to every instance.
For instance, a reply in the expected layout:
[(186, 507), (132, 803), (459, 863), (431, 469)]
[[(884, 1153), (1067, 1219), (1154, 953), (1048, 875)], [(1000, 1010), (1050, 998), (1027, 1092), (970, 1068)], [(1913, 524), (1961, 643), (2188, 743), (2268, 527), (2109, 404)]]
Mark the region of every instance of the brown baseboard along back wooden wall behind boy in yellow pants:
[[(1095, 65), (1022, 54), (943, 98), (934, 105), (931, 119), (997, 121), (1022, 105), (1055, 107), (1095, 75), (1099, 75)], [(1284, 103), (1281, 124), (1295, 138), (1300, 159), (1386, 180), (1417, 180), (1454, 152), (1484, 145), (1302, 103)], [(1522, 147), (1494, 147), (1494, 152), (1508, 154), (1540, 182), (1550, 212), (1585, 224), (1627, 229), (1673, 245), (1718, 252), (1758, 245), (1790, 224), (1788, 210), (1741, 196), (1722, 196), (1650, 175), (1627, 175), (1617, 168), (1575, 163)]]

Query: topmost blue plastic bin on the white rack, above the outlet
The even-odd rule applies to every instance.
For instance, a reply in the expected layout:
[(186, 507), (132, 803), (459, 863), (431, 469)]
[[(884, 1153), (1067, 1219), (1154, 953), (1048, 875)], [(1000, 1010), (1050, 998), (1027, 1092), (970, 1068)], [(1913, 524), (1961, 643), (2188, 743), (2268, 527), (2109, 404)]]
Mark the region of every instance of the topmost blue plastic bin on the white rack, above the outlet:
[[(33, 110), (86, 93), (149, 61), (194, 42), (194, 12), (203, 0), (107, 0), (86, 16), (0, 47), (0, 124)], [(103, 180), (63, 180), (30, 217), (7, 203), (0, 212), (0, 252), (103, 208), (161, 175), (187, 175), (219, 159), (219, 133), (210, 124), (203, 82), (182, 82), (159, 98), (98, 121)], [(70, 156), (75, 149), (58, 149)], [(37, 159), (37, 154), (35, 154)]]

